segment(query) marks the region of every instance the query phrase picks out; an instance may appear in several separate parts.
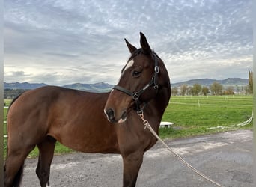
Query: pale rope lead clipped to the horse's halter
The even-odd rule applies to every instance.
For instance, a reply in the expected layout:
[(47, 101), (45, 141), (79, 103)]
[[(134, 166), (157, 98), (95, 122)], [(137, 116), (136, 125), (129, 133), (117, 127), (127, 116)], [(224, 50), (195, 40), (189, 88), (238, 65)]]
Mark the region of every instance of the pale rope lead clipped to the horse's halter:
[(200, 171), (198, 171), (197, 169), (193, 168), (192, 165), (189, 165), (188, 162), (186, 162), (182, 157), (180, 157), (174, 150), (172, 150), (170, 147), (168, 147), (167, 144), (165, 144), (164, 141), (162, 141), (161, 138), (159, 138), (159, 136), (156, 134), (156, 132), (152, 129), (152, 127), (150, 126), (150, 123), (147, 120), (144, 120), (144, 114), (143, 111), (141, 113), (138, 113), (139, 117), (141, 117), (141, 120), (144, 124), (144, 129), (149, 129), (150, 132), (159, 140), (162, 142), (162, 144), (171, 152), (174, 154), (174, 156), (177, 157), (177, 159), (180, 159), (181, 162), (183, 162), (183, 164), (185, 164), (187, 167), (189, 167), (190, 169), (192, 169), (192, 171), (195, 171), (196, 174), (198, 174), (199, 176), (203, 177), (205, 180), (209, 181), (210, 183), (213, 183), (216, 186), (220, 186), (222, 187), (219, 183), (216, 183), (215, 181), (211, 180), (209, 177), (207, 177), (206, 175), (202, 174)]

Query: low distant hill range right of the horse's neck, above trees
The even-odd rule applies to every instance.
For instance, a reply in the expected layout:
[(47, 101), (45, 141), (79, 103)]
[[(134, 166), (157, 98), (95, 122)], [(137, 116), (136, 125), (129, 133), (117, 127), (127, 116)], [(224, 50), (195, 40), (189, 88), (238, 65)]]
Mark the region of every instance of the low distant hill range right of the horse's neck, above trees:
[(195, 84), (199, 84), (202, 86), (207, 86), (209, 87), (210, 85), (213, 84), (213, 82), (219, 82), (219, 84), (223, 85), (224, 87), (228, 86), (245, 86), (248, 85), (248, 79), (241, 79), (241, 78), (228, 78), (228, 79), (222, 79), (222, 80), (217, 80), (217, 79), (192, 79), (186, 82), (177, 82), (171, 84), (172, 88), (178, 88), (181, 85), (188, 85), (192, 86)]

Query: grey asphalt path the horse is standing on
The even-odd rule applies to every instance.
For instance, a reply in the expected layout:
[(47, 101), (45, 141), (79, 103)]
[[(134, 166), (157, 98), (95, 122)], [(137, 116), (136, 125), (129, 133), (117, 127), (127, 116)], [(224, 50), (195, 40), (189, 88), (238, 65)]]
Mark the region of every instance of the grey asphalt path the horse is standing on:
[[(222, 186), (254, 186), (252, 131), (165, 140), (183, 159)], [(21, 186), (40, 186), (37, 159), (27, 159)], [(122, 159), (115, 154), (55, 156), (51, 186), (122, 186)], [(137, 186), (214, 186), (187, 168), (158, 142), (144, 154)]]

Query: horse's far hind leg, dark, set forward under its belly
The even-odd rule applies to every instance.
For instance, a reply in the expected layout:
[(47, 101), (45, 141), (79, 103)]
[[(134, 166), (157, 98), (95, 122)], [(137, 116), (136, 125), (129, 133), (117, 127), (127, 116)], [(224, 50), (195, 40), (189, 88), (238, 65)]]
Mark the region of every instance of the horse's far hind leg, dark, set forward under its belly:
[(37, 163), (37, 177), (40, 180), (40, 185), (45, 187), (49, 183), (50, 166), (52, 163), (56, 140), (47, 136), (40, 144), (37, 144), (39, 157)]

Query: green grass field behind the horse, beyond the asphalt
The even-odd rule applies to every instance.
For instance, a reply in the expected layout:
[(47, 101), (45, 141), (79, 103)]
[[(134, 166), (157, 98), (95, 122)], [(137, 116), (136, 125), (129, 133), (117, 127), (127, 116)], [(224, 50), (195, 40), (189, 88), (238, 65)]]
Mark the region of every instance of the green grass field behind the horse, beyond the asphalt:
[[(10, 100), (4, 100), (7, 105)], [(251, 96), (171, 96), (162, 121), (173, 122), (171, 128), (160, 128), (161, 138), (183, 138), (192, 135), (210, 134), (235, 129), (252, 129), (252, 122), (242, 127), (230, 127), (243, 123), (252, 115), (253, 98)], [(6, 120), (7, 108), (4, 108)], [(147, 120), (147, 117), (145, 117)], [(208, 129), (222, 126), (225, 129)], [(4, 135), (7, 134), (4, 123)], [(6, 138), (4, 138), (4, 156), (6, 154)], [(70, 153), (67, 147), (56, 144), (55, 154)], [(30, 157), (37, 156), (37, 149)]]

